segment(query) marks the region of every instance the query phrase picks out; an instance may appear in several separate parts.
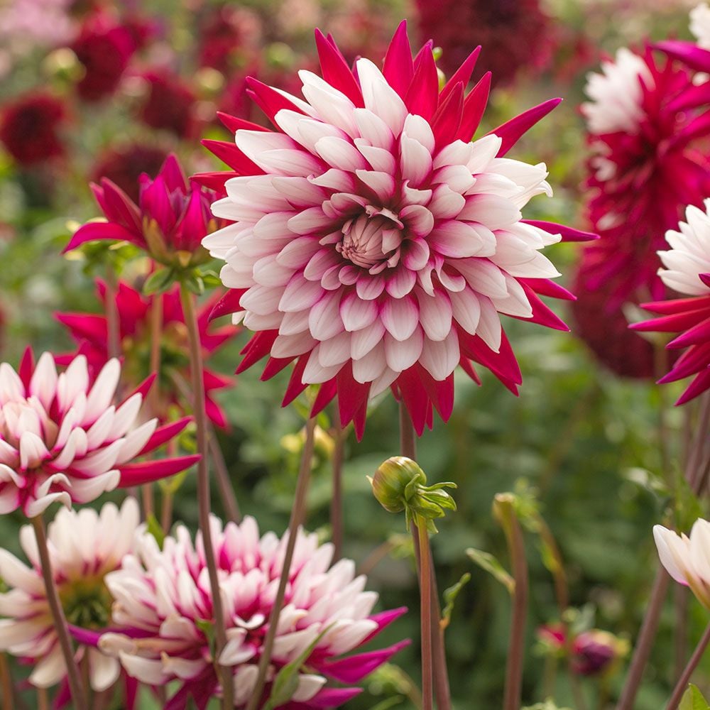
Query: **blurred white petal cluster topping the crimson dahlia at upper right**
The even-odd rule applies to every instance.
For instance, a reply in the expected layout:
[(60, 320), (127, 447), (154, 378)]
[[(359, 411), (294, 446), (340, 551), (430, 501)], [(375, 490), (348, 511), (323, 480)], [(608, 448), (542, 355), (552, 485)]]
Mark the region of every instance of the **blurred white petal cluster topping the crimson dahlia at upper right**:
[(584, 92), (589, 101), (581, 104), (590, 133), (636, 133), (643, 119), (643, 88), (653, 85), (653, 75), (642, 57), (626, 48), (616, 52), (613, 62), (601, 63), (601, 71), (589, 72)]

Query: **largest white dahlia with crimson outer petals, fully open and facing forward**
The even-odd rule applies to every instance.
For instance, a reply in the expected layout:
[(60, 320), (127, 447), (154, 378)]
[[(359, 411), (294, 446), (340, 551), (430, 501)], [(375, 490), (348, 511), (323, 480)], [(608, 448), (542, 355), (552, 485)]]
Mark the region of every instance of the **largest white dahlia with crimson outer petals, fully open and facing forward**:
[(540, 250), (590, 235), (523, 219), (547, 170), (503, 157), (558, 101), (470, 143), (488, 94), (464, 97), (477, 51), (439, 92), (432, 45), (412, 60), (404, 23), (383, 72), (316, 39), (324, 78), (300, 72), (306, 100), (249, 82), (276, 131), (226, 117), (236, 145), (210, 143), (234, 168), (201, 178), (224, 185), (212, 211), (234, 221), (203, 241), (226, 261), (216, 312), (256, 332), (238, 371), (296, 361), (284, 403), (320, 385), (314, 412), (337, 394), (361, 436), (368, 396), (392, 387), (421, 433), (432, 406), (451, 414), (458, 364), (517, 391), (500, 314), (566, 329), (538, 297), (569, 297)]

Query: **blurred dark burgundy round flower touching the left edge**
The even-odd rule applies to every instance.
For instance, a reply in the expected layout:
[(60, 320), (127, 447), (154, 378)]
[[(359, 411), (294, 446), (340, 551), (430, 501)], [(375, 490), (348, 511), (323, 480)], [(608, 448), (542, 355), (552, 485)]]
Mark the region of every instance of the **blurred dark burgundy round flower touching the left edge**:
[(23, 94), (6, 104), (0, 117), (0, 141), (21, 165), (32, 165), (64, 153), (58, 127), (65, 105), (46, 92)]

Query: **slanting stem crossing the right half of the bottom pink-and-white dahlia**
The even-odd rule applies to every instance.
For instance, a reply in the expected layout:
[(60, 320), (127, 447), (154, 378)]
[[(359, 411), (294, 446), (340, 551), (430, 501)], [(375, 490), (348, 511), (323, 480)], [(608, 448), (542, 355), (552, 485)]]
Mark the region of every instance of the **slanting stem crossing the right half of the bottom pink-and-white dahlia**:
[(306, 437), (303, 443), (303, 451), (301, 453), (301, 464), (298, 469), (298, 480), (296, 481), (296, 491), (293, 500), (293, 508), (291, 508), (291, 517), (288, 523), (288, 540), (286, 542), (286, 551), (283, 557), (283, 567), (281, 568), (281, 576), (278, 580), (278, 590), (273, 601), (273, 607), (268, 618), (268, 630), (264, 638), (261, 657), (259, 658), (258, 675), (256, 684), (254, 685), (249, 704), (246, 710), (257, 710), (261, 703), (264, 686), (266, 685), (266, 672), (268, 665), (271, 662), (271, 652), (273, 651), (273, 642), (276, 638), (276, 629), (278, 628), (278, 618), (283, 607), (283, 600), (286, 596), (286, 585), (293, 561), (293, 552), (296, 547), (298, 537), (298, 528), (302, 525), (306, 512), (306, 494), (308, 493), (308, 484), (310, 482), (311, 466), (313, 459), (313, 448), (315, 445), (315, 419), (309, 419), (306, 422)]

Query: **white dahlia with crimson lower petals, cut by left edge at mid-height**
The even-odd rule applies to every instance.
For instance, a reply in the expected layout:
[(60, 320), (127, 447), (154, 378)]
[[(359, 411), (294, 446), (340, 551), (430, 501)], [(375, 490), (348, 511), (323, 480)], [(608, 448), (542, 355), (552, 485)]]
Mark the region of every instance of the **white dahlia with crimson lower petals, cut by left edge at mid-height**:
[(185, 428), (189, 419), (136, 426), (150, 381), (119, 405), (121, 366), (110, 360), (94, 381), (79, 355), (58, 375), (49, 353), (18, 372), (0, 364), (0, 513), (28, 518), (54, 501), (88, 503), (116, 486), (136, 486), (187, 469), (198, 456), (135, 462)]

